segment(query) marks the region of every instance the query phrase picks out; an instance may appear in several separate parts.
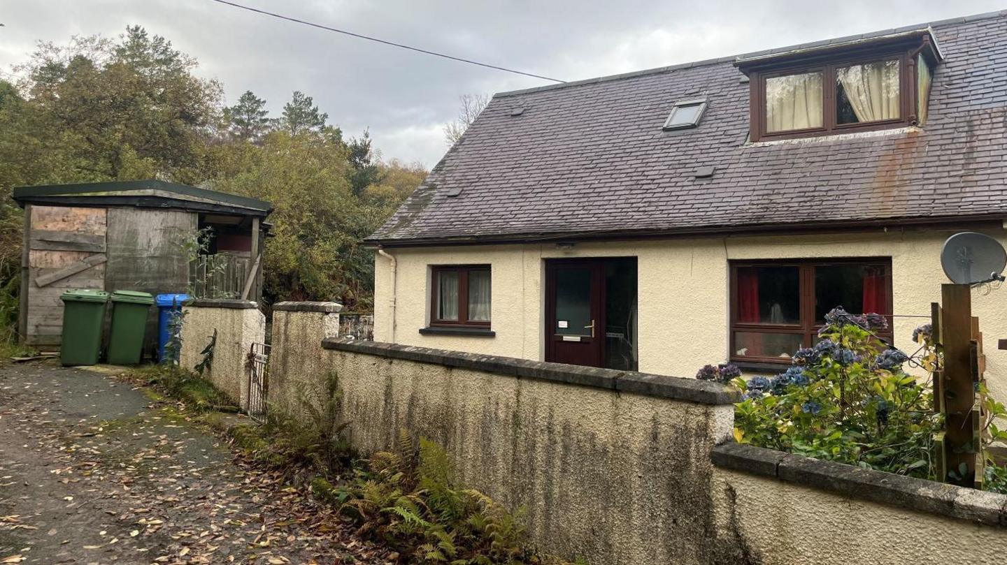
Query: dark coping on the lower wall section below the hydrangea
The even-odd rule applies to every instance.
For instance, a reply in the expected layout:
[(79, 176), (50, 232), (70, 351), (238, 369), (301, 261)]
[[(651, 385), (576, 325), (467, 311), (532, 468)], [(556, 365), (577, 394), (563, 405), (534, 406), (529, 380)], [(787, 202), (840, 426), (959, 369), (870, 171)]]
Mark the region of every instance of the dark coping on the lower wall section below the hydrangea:
[(713, 448), (717, 466), (827, 491), (850, 499), (1007, 526), (1007, 496), (729, 441)]

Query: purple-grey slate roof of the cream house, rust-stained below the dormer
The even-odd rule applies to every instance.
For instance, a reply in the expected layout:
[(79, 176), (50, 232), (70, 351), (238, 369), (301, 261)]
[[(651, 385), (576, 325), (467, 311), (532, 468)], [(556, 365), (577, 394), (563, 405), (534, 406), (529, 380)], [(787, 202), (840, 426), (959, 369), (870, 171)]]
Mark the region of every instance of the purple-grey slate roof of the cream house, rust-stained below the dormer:
[[(735, 57), (502, 92), (369, 240), (1007, 218), (1007, 10), (911, 27), (927, 25), (945, 60), (921, 129), (748, 143)], [(709, 106), (698, 128), (662, 130), (676, 101), (699, 97)], [(713, 177), (695, 178), (703, 166)]]

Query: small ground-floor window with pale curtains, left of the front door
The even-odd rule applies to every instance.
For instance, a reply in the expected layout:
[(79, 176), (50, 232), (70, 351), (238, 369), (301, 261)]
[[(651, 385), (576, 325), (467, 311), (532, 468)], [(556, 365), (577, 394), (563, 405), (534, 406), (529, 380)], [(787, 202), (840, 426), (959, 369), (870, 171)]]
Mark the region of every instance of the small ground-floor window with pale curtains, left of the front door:
[(435, 266), (430, 325), (489, 327), (489, 265)]

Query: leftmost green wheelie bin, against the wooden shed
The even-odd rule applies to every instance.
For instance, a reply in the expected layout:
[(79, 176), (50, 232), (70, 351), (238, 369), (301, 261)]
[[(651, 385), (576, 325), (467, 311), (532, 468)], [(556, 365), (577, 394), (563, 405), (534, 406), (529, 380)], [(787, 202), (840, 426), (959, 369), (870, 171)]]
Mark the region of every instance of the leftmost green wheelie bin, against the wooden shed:
[(109, 294), (92, 290), (66, 291), (59, 299), (63, 303), (59, 361), (66, 366), (97, 365)]

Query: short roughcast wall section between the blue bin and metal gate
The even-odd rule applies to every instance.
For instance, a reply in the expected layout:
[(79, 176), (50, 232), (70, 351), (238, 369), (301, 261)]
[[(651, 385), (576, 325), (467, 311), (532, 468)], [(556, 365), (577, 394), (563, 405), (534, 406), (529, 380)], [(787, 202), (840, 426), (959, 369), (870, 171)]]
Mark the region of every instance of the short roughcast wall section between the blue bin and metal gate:
[(182, 350), (179, 365), (186, 370), (202, 361), (203, 348), (217, 331), (217, 345), (209, 370), (203, 377), (245, 406), (248, 373), (245, 364), (253, 343), (266, 341), (266, 318), (254, 302), (198, 300), (182, 308)]

